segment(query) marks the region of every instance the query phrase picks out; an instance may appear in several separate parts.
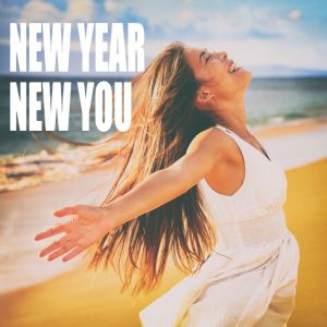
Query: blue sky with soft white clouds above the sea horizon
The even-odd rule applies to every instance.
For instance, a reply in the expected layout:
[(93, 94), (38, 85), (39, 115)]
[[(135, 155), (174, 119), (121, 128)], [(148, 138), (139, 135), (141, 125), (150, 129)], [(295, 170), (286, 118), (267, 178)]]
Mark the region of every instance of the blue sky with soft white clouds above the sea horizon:
[(140, 22), (145, 27), (147, 59), (168, 43), (182, 40), (226, 50), (244, 66), (327, 70), (327, 1), (323, 0), (0, 0), (0, 73), (9, 70), (10, 22)]

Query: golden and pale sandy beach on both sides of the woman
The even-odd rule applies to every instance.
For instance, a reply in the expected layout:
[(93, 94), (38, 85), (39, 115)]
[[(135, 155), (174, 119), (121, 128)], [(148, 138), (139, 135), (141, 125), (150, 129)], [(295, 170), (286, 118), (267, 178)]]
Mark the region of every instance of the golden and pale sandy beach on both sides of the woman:
[[(324, 326), (327, 118), (253, 131), (287, 171), (284, 211), (301, 247), (296, 308), (288, 326)], [(138, 311), (183, 278), (170, 261), (162, 284), (133, 299), (120, 293), (121, 282), (113, 270), (86, 271), (83, 255), (68, 263), (37, 257), (51, 240), (36, 242), (34, 237), (57, 222), (51, 211), (69, 204), (99, 203), (111, 178), (102, 168), (0, 193), (0, 326), (141, 326)]]

